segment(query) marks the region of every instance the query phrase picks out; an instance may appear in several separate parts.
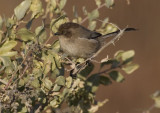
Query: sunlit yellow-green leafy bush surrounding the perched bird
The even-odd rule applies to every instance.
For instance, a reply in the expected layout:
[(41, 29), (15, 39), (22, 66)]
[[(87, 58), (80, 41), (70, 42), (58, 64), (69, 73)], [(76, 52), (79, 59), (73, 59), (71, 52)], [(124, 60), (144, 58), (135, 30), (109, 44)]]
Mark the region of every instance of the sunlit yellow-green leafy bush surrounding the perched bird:
[[(102, 34), (119, 29), (107, 17), (96, 27), (99, 9), (112, 8), (114, 0), (95, 0), (97, 7), (91, 12), (83, 6), (85, 18), (73, 6), (72, 20), (64, 10), (66, 3), (67, 0), (24, 0), (11, 17), (0, 16), (0, 112), (94, 113), (108, 101), (95, 99), (98, 87), (122, 82), (124, 76), (119, 70), (131, 74), (139, 67), (132, 62), (133, 50), (120, 50), (114, 58), (102, 59), (97, 73), (92, 72), (96, 64), (93, 60), (89, 64), (82, 58), (71, 61), (61, 54), (58, 40), (51, 39), (59, 25), (67, 21), (88, 21), (89, 29)], [(70, 76), (68, 72), (73, 71), (74, 76)], [(64, 103), (67, 107), (62, 107)]]

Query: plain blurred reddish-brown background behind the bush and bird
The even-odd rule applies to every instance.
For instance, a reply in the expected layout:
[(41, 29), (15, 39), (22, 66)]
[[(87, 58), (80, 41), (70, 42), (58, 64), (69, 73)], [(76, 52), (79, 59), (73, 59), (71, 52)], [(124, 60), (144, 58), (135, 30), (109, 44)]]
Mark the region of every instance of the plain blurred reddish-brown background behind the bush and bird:
[[(0, 0), (0, 15), (11, 17), (21, 1)], [(109, 46), (101, 55), (113, 57), (118, 50), (133, 49), (136, 52), (134, 62), (140, 68), (125, 76), (126, 80), (122, 83), (99, 88), (97, 100), (108, 98), (109, 102), (98, 113), (143, 113), (154, 104), (151, 94), (160, 90), (160, 0), (130, 0), (130, 5), (126, 0), (115, 1), (113, 9), (100, 10), (100, 19), (107, 16), (120, 28), (128, 25), (138, 31), (125, 33), (115, 46)], [(93, 0), (68, 0), (65, 10), (69, 18), (73, 18), (73, 5), (79, 14), (82, 14), (82, 6), (89, 11), (96, 7)], [(86, 26), (87, 22), (83, 25)], [(155, 108), (151, 113), (160, 113), (160, 109)]]

